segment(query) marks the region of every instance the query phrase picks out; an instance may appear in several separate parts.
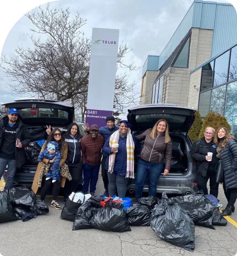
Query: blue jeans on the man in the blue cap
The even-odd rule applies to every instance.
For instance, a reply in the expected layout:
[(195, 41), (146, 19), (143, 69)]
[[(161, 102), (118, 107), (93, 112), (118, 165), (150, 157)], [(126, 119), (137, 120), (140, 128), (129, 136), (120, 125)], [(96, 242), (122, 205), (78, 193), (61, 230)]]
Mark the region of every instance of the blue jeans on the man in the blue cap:
[(4, 189), (12, 189), (14, 176), (16, 172), (16, 160), (7, 160), (0, 158), (0, 179), (7, 167), (7, 182)]

